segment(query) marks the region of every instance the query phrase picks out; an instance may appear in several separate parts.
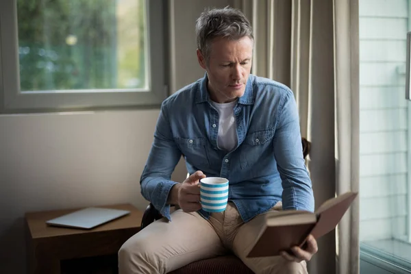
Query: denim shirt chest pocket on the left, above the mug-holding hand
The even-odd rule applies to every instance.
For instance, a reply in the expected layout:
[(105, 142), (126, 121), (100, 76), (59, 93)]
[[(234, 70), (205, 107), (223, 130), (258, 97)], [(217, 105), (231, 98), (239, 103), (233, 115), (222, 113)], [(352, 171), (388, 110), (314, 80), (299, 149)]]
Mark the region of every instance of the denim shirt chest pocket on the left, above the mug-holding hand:
[(197, 170), (210, 167), (206, 138), (175, 138), (188, 164)]

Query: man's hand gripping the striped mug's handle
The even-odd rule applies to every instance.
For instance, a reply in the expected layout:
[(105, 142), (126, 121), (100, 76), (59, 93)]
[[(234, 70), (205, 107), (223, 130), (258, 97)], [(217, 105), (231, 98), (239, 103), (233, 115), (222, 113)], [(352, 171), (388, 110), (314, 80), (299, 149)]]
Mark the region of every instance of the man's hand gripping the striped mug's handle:
[(181, 184), (175, 184), (171, 188), (171, 197), (175, 197), (175, 204), (184, 212), (193, 212), (201, 209), (200, 203), (200, 179), (205, 178), (201, 171), (192, 173), (190, 177), (184, 180)]

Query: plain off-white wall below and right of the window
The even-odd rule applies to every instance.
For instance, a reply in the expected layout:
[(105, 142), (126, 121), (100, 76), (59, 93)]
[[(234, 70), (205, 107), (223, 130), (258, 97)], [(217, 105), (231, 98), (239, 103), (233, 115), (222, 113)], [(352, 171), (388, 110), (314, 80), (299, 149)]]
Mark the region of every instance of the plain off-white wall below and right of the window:
[[(206, 3), (170, 1), (172, 86), (203, 76), (195, 19)], [(184, 9), (183, 9), (184, 8)], [(2, 68), (0, 68), (1, 70)], [(25, 212), (133, 203), (144, 210), (139, 179), (159, 110), (0, 116), (0, 273), (25, 272)], [(173, 179), (186, 175), (182, 162)]]

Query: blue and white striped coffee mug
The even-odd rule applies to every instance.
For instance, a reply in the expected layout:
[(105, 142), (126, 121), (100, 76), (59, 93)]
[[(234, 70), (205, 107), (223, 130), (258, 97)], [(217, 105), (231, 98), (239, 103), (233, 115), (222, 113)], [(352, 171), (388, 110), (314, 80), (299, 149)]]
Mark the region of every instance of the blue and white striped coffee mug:
[(228, 180), (222, 177), (200, 179), (201, 207), (207, 212), (223, 212), (228, 201)]

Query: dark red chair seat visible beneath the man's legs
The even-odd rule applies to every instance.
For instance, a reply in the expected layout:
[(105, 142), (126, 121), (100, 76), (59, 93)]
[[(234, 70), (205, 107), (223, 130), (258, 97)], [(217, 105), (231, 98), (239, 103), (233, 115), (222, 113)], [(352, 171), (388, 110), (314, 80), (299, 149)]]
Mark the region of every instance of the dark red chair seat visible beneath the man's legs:
[(199, 260), (176, 269), (170, 274), (210, 274), (210, 273), (227, 273), (227, 274), (253, 274), (240, 259), (234, 255), (219, 256), (216, 258)]

